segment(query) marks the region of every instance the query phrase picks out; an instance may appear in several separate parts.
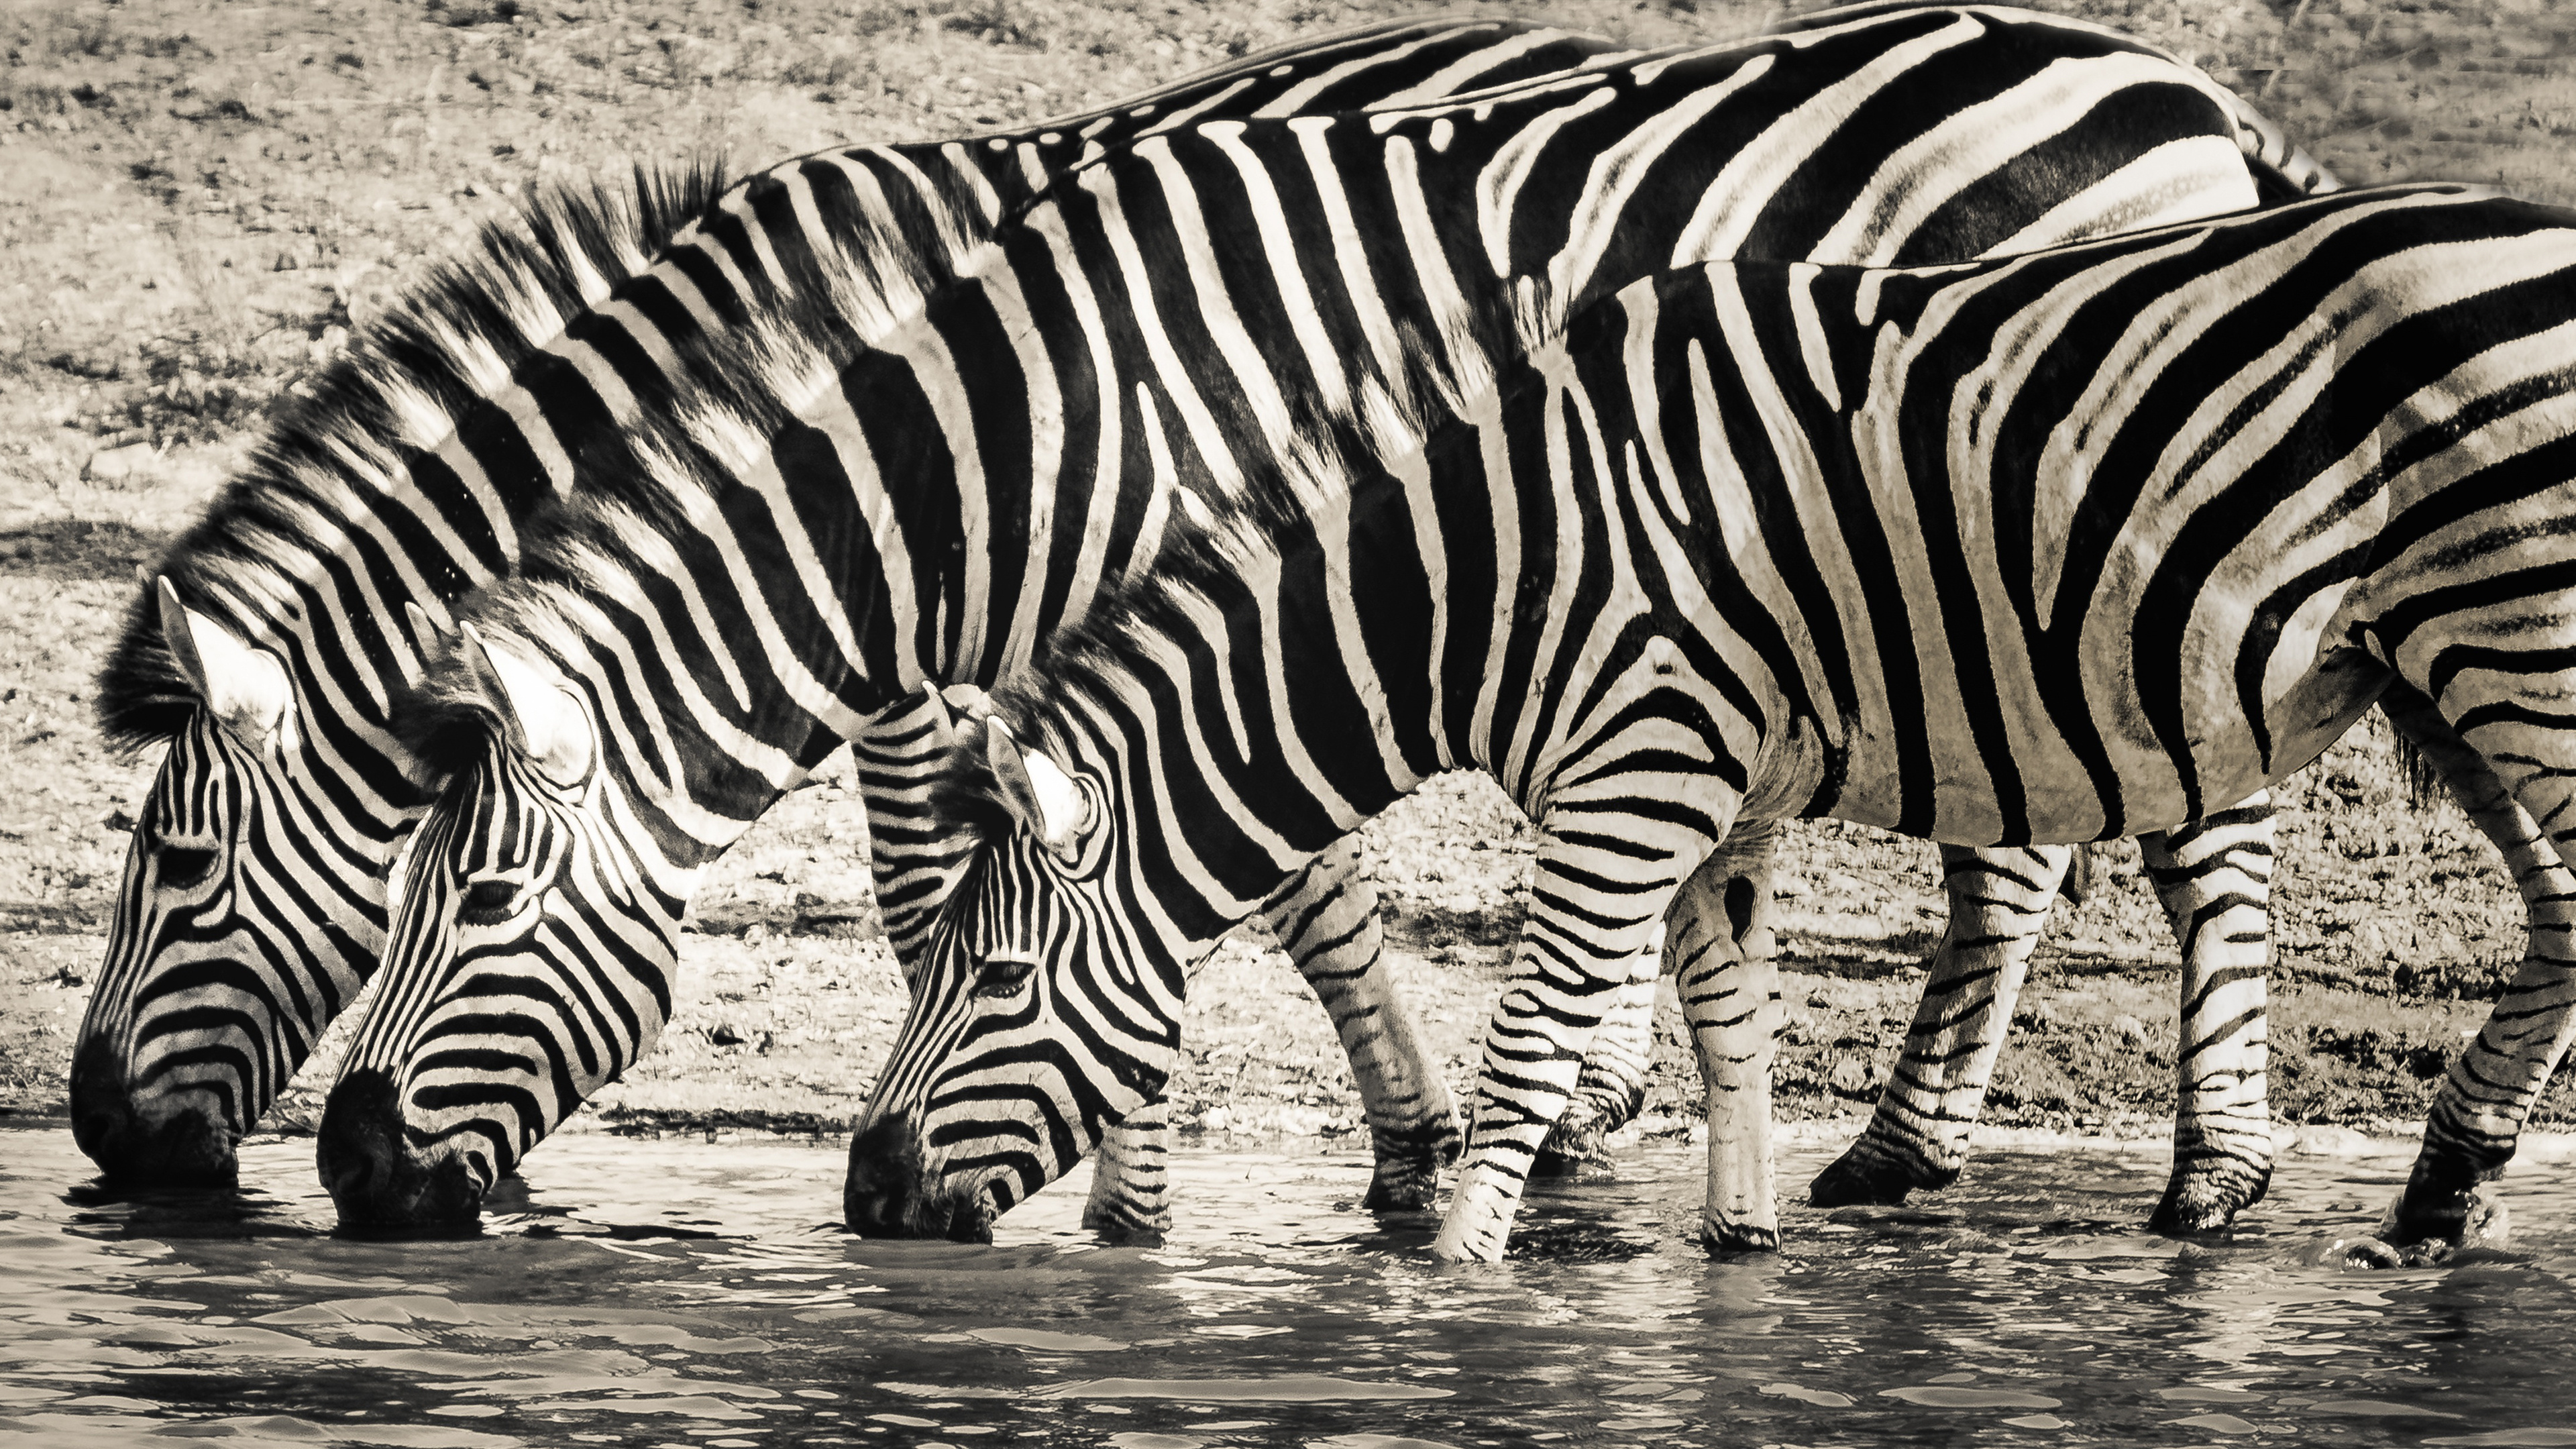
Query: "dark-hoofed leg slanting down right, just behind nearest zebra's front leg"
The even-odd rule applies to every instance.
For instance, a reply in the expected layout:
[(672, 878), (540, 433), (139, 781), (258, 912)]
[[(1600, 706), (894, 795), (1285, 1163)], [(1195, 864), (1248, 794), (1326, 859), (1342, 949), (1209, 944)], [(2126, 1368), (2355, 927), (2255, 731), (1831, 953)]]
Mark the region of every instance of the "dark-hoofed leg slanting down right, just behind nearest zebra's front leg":
[[(1262, 908), (1280, 949), (1332, 1016), (1360, 1111), (1378, 1155), (1368, 1207), (1419, 1212), (1440, 1191), (1440, 1168), (1458, 1158), (1458, 1114), (1448, 1083), (1422, 1052), (1414, 1016), (1386, 967), (1378, 887), (1360, 869), (1360, 843), (1334, 841)], [(1097, 1181), (1097, 1178), (1095, 1178)]]

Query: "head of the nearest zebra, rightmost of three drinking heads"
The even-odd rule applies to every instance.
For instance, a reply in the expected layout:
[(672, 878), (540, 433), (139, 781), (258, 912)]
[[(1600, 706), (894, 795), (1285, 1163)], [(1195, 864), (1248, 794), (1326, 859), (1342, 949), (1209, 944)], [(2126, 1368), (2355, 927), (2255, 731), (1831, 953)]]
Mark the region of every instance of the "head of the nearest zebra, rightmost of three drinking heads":
[(999, 812), (850, 1142), (842, 1209), (868, 1238), (989, 1240), (1157, 1098), (1180, 1049), (1188, 949), (1126, 926), (1136, 877), (1103, 776), (1023, 750), (999, 719), (979, 735), (974, 776)]

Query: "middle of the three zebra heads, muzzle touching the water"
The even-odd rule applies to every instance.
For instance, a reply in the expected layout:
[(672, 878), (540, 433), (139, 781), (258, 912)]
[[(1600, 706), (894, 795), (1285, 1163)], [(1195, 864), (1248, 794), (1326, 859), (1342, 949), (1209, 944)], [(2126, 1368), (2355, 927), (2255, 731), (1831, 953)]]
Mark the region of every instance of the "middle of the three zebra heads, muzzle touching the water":
[(608, 828), (590, 704), (471, 627), (459, 655), (469, 745), (412, 833), (384, 990), (322, 1111), (317, 1165), (353, 1225), (471, 1220), (670, 1016), (685, 892)]

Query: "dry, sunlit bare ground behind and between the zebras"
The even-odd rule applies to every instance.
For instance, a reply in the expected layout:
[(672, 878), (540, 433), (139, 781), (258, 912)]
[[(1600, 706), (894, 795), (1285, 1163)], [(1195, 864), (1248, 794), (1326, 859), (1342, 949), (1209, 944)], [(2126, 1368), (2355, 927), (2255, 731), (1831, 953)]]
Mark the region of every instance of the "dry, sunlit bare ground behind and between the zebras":
[[(2259, 95), (2349, 180), (2501, 180), (2576, 201), (2576, 8), (2099, 0), (2066, 5)], [(1401, 10), (1401, 8), (1396, 8)], [(57, 0), (0, 8), (0, 1111), (62, 1111), (129, 815), (155, 761), (100, 748), (90, 673), (147, 565), (265, 407), (404, 276), (546, 175), (732, 147), (747, 162), (1105, 103), (1376, 13), (1340, 0)], [(1659, 44), (1747, 3), (1538, 13)], [(2522, 951), (2458, 812), (2416, 815), (2383, 732), (2295, 781), (2277, 892), (2275, 1101), (2303, 1122), (2421, 1114)], [(1528, 830), (1450, 776), (1370, 833), (1430, 1042), (1466, 1083), (1517, 920)], [(845, 1119), (899, 1011), (837, 776), (716, 871), (662, 1049), (603, 1098), (659, 1127)], [(1883, 1075), (1942, 926), (1929, 846), (1801, 828), (1783, 887), (1788, 1116)], [(2136, 851), (2128, 851), (2133, 859)], [(2169, 1111), (2174, 946), (2125, 871), (2050, 933), (1991, 1119), (2138, 1129)], [(1332, 1034), (1275, 951), (1193, 993), (1182, 1122), (1347, 1132)], [(1667, 1011), (1649, 1114), (1687, 1119)], [(309, 1078), (312, 1080), (312, 1073)], [(309, 1116), (294, 1093), (281, 1124)], [(2566, 1091), (2543, 1109), (2576, 1119)]]

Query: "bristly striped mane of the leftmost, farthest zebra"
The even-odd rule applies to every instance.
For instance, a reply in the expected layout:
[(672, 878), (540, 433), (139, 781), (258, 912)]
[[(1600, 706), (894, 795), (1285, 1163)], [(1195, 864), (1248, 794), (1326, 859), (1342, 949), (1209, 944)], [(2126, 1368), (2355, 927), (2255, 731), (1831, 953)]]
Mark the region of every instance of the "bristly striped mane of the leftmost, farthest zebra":
[[(250, 462), (155, 572), (247, 639), (291, 619), (299, 572), (402, 487), (415, 451), (446, 441), (567, 320), (652, 266), (726, 186), (714, 157), (639, 165), (626, 180), (546, 186), (515, 217), (487, 222), (469, 255), (435, 266), (278, 407)], [(183, 730), (196, 704), (162, 639), (155, 590), (142, 588), (98, 673), (100, 732), (139, 750)]]

